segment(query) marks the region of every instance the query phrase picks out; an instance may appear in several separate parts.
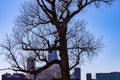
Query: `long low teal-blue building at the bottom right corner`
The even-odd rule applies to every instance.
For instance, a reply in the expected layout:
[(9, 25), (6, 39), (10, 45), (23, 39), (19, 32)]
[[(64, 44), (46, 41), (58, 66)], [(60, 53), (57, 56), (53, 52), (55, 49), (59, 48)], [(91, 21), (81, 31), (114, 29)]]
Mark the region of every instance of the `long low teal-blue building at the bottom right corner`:
[(120, 80), (120, 72), (96, 73), (96, 80)]

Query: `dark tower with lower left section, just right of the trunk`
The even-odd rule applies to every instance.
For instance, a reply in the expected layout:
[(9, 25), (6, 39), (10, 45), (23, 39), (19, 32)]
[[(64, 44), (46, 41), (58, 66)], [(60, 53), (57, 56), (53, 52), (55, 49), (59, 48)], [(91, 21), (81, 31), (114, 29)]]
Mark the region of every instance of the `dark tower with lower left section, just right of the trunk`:
[(71, 80), (81, 80), (81, 69), (75, 68), (74, 72), (71, 74)]

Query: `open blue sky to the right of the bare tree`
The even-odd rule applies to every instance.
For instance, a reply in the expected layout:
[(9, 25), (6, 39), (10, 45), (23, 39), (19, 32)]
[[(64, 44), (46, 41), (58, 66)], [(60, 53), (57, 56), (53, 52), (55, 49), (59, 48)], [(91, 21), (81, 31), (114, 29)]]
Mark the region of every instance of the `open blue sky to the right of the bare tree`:
[[(120, 1), (100, 9), (90, 7), (81, 15), (87, 21), (87, 28), (96, 37), (103, 37), (103, 51), (90, 63), (82, 66), (82, 71), (90, 73), (120, 72)], [(79, 15), (78, 15), (79, 16)], [(85, 74), (84, 74), (85, 75)]]

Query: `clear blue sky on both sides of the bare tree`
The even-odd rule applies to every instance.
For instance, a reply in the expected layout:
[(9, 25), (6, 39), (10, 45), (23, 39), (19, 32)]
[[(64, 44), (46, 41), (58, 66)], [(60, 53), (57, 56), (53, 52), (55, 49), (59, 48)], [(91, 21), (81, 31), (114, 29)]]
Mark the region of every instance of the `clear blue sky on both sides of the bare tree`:
[[(27, 0), (0, 0), (0, 42), (12, 31), (13, 21), (24, 1)], [(100, 9), (89, 7), (75, 17), (85, 19), (87, 29), (96, 37), (102, 37), (105, 45), (97, 57), (81, 66), (82, 80), (86, 73), (120, 72), (120, 1), (116, 0), (110, 7), (102, 5)], [(0, 62), (0, 68), (8, 66), (2, 55)], [(5, 72), (0, 71), (0, 77)]]

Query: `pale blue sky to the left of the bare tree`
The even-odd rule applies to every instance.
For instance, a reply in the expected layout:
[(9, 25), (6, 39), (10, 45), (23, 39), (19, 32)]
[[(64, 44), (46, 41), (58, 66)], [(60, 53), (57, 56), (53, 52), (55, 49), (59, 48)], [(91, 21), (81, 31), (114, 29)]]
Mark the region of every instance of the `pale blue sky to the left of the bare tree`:
[[(0, 43), (4, 40), (6, 33), (10, 33), (14, 27), (13, 21), (19, 13), (20, 5), (25, 0), (0, 0)], [(2, 50), (0, 49), (0, 53)], [(6, 62), (6, 58), (3, 55), (0, 55), (0, 68), (5, 68), (9, 66)], [(1, 75), (12, 71), (0, 71), (0, 80)]]

